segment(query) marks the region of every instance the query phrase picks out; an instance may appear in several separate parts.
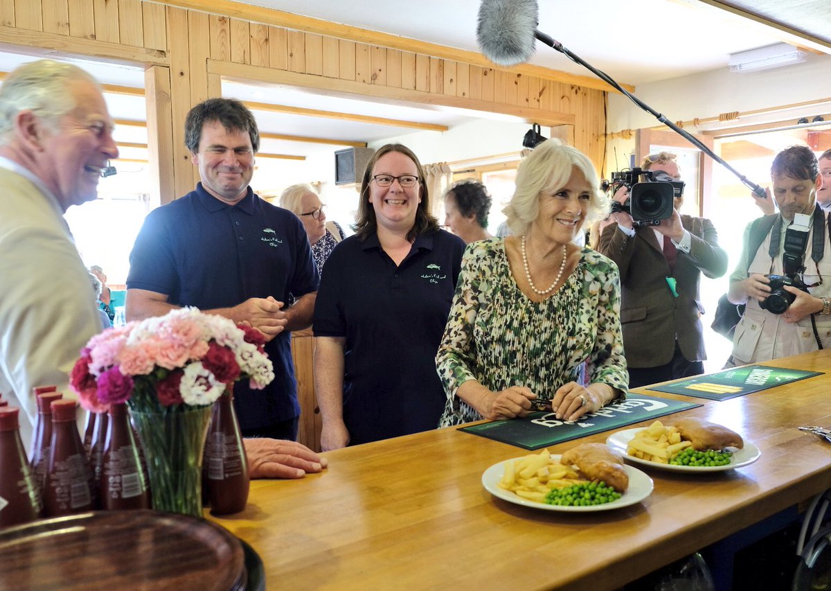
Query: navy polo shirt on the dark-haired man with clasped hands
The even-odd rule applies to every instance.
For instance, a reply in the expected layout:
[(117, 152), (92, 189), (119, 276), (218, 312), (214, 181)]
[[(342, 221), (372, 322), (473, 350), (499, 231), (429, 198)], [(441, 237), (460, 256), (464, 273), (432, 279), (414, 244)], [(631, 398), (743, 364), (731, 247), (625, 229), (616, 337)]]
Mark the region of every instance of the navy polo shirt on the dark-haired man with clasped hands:
[[(165, 293), (177, 306), (230, 308), (248, 298), (317, 290), (317, 267), (297, 216), (254, 195), (224, 204), (196, 185), (181, 199), (154, 209), (130, 253), (127, 289)], [(292, 364), (291, 333), (265, 345), (274, 381), (264, 390), (234, 385), (243, 429), (261, 429), (300, 414)]]

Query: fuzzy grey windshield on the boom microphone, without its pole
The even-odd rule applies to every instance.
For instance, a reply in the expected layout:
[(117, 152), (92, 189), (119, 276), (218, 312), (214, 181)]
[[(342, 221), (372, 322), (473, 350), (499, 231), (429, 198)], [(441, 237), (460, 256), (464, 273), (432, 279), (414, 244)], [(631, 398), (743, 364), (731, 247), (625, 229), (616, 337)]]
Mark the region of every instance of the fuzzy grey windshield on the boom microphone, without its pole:
[(539, 12), (534, 0), (484, 0), (476, 40), (484, 57), (499, 66), (516, 66), (534, 55)]

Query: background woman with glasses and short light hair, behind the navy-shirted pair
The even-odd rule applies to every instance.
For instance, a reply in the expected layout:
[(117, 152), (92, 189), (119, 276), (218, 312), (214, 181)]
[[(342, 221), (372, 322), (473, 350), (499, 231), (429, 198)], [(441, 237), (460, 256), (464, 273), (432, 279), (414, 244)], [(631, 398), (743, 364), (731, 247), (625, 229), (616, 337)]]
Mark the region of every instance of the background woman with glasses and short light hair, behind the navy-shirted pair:
[(311, 185), (292, 185), (280, 195), (280, 207), (288, 209), (300, 218), (309, 244), (312, 245), (312, 256), (317, 264), (317, 272), (323, 273), (323, 263), (332, 254), (337, 243), (346, 238), (343, 229), (337, 222), (326, 221), (325, 205), (312, 189)]

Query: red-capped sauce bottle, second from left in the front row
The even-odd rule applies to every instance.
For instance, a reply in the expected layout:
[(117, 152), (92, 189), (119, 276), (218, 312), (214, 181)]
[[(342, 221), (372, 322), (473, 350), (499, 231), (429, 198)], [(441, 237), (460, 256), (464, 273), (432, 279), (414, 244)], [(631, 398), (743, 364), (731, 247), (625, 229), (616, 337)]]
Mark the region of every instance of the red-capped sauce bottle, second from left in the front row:
[(92, 510), (92, 472), (75, 424), (76, 402), (52, 402), (52, 449), (43, 489), (47, 517)]

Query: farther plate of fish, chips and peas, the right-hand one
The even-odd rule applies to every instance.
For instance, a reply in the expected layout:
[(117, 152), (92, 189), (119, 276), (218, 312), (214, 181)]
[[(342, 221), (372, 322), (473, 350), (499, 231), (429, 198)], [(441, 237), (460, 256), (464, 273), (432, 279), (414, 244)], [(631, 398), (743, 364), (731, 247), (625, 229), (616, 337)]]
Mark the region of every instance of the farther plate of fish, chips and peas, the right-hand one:
[[(671, 425), (655, 421), (648, 427), (617, 431), (608, 437), (606, 443), (612, 449), (622, 453), (626, 460), (632, 463), (673, 472), (701, 473), (733, 470), (752, 464), (762, 455), (758, 447), (749, 441), (744, 441), (735, 431), (695, 417), (686, 417)], [(710, 452), (715, 462), (725, 463), (714, 465), (671, 463), (678, 461), (679, 454), (691, 452), (701, 452), (697, 454), (699, 457)]]

